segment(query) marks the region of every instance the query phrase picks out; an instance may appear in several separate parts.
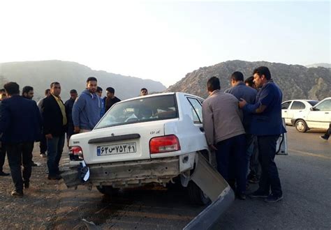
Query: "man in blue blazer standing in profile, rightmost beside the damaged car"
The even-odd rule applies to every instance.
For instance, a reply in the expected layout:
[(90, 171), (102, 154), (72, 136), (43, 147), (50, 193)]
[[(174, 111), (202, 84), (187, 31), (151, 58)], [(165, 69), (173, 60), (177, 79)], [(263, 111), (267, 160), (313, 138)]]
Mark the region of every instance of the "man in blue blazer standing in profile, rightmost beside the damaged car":
[[(277, 139), (286, 132), (281, 120), (282, 93), (279, 87), (271, 79), (270, 70), (260, 66), (253, 70), (254, 83), (260, 87), (256, 95), (256, 102), (249, 104), (242, 99), (240, 108), (253, 113), (249, 132), (257, 136), (258, 152), (262, 174), (258, 190), (250, 194), (250, 197), (262, 197), (266, 202), (277, 202), (283, 199), (281, 181), (277, 165), (274, 162)], [(271, 188), (271, 194), (270, 194)]]

